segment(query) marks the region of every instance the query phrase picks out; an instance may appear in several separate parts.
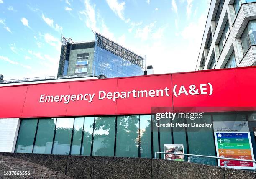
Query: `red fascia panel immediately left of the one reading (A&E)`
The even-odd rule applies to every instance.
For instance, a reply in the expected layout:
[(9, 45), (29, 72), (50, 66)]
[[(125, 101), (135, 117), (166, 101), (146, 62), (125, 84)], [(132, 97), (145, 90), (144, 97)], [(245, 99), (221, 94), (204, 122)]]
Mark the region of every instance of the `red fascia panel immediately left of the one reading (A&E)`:
[(146, 114), (151, 113), (151, 107), (172, 107), (171, 75), (146, 76), (118, 79), (118, 92), (138, 90), (169, 89), (170, 96), (119, 98), (117, 114)]

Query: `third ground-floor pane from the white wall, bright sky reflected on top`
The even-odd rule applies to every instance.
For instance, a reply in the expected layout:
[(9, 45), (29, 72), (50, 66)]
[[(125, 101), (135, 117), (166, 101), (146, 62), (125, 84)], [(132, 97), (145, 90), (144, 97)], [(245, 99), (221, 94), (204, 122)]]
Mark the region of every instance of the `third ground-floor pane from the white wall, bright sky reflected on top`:
[(58, 118), (52, 154), (69, 155), (74, 118)]

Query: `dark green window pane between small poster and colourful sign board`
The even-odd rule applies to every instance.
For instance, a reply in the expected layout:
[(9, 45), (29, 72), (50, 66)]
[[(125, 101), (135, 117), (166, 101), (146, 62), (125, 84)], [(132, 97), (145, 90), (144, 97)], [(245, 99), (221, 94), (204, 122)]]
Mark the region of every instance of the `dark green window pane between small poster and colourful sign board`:
[[(215, 145), (213, 138), (212, 128), (205, 127), (191, 127), (191, 123), (209, 123), (211, 124), (211, 116), (203, 115), (202, 119), (187, 119), (187, 123), (190, 124), (187, 127), (187, 140), (189, 145), (189, 153), (196, 155), (215, 155)], [(190, 157), (191, 162), (207, 165), (217, 165), (216, 159), (211, 159), (207, 157)]]

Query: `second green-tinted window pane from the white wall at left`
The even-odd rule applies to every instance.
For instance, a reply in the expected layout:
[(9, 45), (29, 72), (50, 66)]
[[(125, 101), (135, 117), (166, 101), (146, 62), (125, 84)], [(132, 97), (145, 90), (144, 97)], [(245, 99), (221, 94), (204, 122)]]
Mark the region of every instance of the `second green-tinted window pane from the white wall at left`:
[(56, 118), (40, 119), (33, 153), (51, 154)]

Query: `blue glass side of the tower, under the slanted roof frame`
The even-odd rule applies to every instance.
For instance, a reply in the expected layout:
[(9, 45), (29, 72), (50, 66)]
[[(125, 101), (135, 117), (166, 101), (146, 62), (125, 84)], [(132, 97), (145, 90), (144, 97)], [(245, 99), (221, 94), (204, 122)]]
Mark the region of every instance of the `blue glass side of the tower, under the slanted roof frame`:
[(98, 38), (95, 39), (93, 69), (95, 75), (104, 74), (106, 77), (128, 77), (143, 75), (143, 67), (128, 61), (98, 44)]

